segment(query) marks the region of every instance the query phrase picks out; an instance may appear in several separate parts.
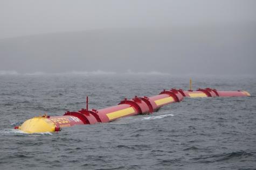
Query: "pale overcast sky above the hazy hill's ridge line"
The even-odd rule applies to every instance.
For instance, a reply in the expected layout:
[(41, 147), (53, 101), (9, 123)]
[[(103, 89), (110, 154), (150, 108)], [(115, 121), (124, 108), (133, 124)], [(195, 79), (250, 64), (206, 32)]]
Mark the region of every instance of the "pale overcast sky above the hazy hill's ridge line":
[(248, 24), (256, 1), (0, 1), (0, 38), (105, 28)]

